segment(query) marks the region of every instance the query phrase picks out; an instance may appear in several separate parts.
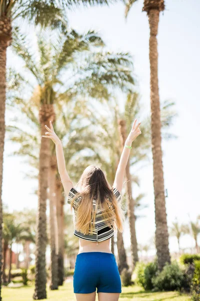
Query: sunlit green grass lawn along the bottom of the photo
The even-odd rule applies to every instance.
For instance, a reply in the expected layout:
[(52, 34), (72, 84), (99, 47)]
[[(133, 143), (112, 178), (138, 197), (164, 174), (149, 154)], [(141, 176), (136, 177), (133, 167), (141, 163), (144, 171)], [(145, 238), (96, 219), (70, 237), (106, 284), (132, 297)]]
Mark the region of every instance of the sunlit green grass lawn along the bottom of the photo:
[[(32, 301), (33, 286), (23, 286), (20, 288), (2, 288), (3, 301)], [(47, 297), (49, 301), (75, 301), (75, 294), (73, 293), (72, 281), (60, 286), (58, 291), (47, 289)], [(97, 294), (96, 294), (96, 300)], [(177, 292), (145, 292), (141, 287), (128, 286), (122, 287), (120, 294), (120, 301), (188, 301), (190, 297), (187, 295), (179, 295)]]

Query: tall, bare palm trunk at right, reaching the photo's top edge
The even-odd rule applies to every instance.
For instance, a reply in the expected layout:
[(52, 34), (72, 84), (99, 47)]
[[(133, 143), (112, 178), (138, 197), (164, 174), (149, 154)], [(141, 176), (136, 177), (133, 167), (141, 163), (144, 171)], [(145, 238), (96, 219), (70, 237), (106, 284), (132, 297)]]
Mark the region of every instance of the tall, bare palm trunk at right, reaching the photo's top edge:
[(164, 196), (164, 180), (161, 150), (160, 103), (157, 76), (157, 29), (159, 11), (164, 9), (163, 0), (144, 0), (143, 11), (148, 14), (150, 28), (149, 61), (150, 61), (150, 109), (151, 109), (151, 147), (153, 158), (153, 188), (155, 204), (155, 240), (158, 269), (161, 270), (166, 262), (170, 263), (168, 247), (168, 229)]

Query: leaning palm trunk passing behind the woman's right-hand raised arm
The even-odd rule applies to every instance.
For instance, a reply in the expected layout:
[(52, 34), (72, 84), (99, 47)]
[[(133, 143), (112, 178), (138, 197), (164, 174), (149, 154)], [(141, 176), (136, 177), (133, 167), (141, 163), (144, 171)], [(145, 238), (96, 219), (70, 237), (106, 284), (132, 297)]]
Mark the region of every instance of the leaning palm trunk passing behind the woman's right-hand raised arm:
[[(119, 129), (122, 138), (123, 145), (125, 144), (125, 140), (127, 138), (126, 135), (126, 125), (125, 120), (119, 120)], [(132, 255), (132, 269), (134, 269), (136, 262), (138, 261), (138, 251), (137, 251), (137, 239), (136, 239), (136, 232), (135, 232), (135, 215), (134, 215), (134, 200), (132, 198), (132, 187), (131, 187), (131, 177), (130, 177), (130, 161), (128, 159), (126, 168), (125, 168), (125, 175), (126, 175), (126, 188), (127, 188), (127, 215), (129, 221), (129, 228), (130, 228), (130, 249)]]

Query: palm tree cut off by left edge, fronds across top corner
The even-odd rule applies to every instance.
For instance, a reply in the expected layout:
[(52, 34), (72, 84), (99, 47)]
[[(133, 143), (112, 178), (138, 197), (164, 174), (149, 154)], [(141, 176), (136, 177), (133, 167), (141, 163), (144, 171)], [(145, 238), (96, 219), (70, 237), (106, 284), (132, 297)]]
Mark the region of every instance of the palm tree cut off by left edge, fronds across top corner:
[[(65, 24), (61, 21), (62, 10), (57, 8), (56, 1), (0, 1), (0, 271), (2, 254), (2, 166), (5, 135), (5, 74), (6, 49), (12, 40), (12, 22), (17, 18), (24, 18), (35, 25), (59, 27)], [(1, 277), (0, 277), (1, 300)]]

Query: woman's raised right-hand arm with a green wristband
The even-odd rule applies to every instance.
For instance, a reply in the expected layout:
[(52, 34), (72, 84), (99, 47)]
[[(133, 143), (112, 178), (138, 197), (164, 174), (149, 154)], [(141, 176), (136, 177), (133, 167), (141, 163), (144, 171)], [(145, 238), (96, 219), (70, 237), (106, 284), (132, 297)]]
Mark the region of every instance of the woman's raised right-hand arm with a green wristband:
[(141, 124), (141, 122), (139, 122), (136, 125), (136, 121), (137, 119), (134, 120), (132, 128), (125, 140), (125, 144), (123, 146), (123, 150), (121, 153), (121, 157), (119, 160), (119, 164), (117, 166), (117, 170), (116, 170), (116, 175), (114, 178), (114, 183), (113, 183), (113, 187), (115, 187), (120, 193), (122, 190), (122, 185), (123, 185), (123, 178), (125, 175), (125, 167), (126, 164), (128, 162), (128, 158), (129, 158), (129, 154), (130, 154), (130, 148), (125, 147), (125, 145), (130, 146), (132, 142), (136, 139), (136, 137), (141, 133), (140, 129), (139, 129), (139, 125)]

